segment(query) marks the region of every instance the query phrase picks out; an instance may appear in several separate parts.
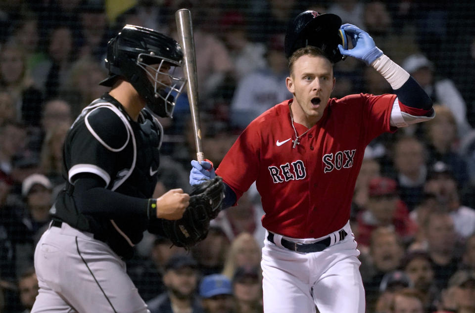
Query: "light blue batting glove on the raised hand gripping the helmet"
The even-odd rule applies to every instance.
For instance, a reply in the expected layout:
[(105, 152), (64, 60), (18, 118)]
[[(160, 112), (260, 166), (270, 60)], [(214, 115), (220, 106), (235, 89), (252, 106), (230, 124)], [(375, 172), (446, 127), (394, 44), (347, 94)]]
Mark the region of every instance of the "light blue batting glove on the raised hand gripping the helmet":
[(370, 65), (382, 55), (382, 51), (375, 45), (375, 41), (364, 30), (352, 24), (343, 24), (342, 29), (351, 38), (352, 49), (345, 49), (338, 45), (341, 55), (349, 55)]

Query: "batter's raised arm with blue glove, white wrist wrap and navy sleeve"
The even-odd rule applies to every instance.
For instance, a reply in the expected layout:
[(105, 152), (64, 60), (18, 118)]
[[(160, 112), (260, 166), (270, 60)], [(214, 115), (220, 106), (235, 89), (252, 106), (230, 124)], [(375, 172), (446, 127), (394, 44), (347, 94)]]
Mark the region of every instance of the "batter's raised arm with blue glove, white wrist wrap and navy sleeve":
[(367, 32), (352, 24), (341, 25), (340, 29), (351, 38), (353, 44), (352, 49), (338, 45), (340, 53), (374, 67), (397, 95), (397, 102), (391, 113), (391, 126), (405, 127), (434, 117), (432, 100), (426, 91), (408, 72), (385, 55)]

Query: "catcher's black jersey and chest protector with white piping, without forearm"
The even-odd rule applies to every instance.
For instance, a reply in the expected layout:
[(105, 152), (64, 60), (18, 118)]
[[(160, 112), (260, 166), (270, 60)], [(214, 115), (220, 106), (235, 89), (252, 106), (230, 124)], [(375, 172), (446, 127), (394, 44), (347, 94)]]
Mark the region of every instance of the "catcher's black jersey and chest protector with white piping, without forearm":
[(92, 102), (66, 136), (63, 177), (67, 186), (50, 210), (53, 218), (94, 233), (116, 253), (130, 257), (133, 245), (147, 229), (147, 216), (134, 211), (121, 217), (81, 213), (73, 197), (74, 182), (80, 174), (92, 173), (104, 181), (106, 189), (150, 198), (157, 183), (162, 133), (160, 123), (146, 109), (135, 122), (109, 94)]

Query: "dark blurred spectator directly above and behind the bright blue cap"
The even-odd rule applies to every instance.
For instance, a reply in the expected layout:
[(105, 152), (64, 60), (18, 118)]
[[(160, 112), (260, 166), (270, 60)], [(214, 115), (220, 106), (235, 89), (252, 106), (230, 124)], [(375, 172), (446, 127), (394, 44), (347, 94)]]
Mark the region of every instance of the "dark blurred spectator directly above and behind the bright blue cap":
[(224, 267), (229, 239), (221, 227), (211, 226), (208, 236), (191, 248), (203, 275), (220, 273)]

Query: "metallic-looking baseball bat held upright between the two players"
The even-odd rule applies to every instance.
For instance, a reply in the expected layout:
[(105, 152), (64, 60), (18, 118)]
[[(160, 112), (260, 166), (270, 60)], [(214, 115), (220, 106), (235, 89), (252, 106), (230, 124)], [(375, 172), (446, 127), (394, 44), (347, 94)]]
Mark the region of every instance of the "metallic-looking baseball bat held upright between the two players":
[(193, 124), (194, 143), (196, 146), (196, 157), (198, 162), (204, 160), (204, 153), (201, 147), (201, 128), (198, 113), (198, 79), (196, 73), (196, 56), (194, 51), (193, 26), (191, 23), (191, 13), (189, 9), (180, 9), (175, 12), (177, 22), (178, 38), (183, 48), (184, 73), (187, 78), (188, 102), (190, 103), (191, 122)]

